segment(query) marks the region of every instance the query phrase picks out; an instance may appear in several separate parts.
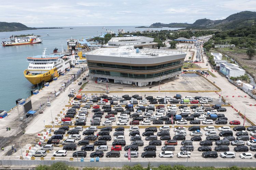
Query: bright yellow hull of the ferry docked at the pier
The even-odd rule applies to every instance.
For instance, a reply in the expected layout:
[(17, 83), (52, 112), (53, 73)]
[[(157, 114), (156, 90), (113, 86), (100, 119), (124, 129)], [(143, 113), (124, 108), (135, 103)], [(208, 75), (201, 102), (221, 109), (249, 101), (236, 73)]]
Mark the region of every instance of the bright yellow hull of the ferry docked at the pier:
[(29, 70), (24, 71), (24, 76), (33, 85), (37, 85), (37, 84), (42, 83), (42, 82), (51, 81), (54, 77), (59, 76), (58, 72), (54, 71), (54, 69), (52, 69), (52, 70), (50, 70), (46, 73), (37, 74), (37, 75), (27, 74), (28, 71)]

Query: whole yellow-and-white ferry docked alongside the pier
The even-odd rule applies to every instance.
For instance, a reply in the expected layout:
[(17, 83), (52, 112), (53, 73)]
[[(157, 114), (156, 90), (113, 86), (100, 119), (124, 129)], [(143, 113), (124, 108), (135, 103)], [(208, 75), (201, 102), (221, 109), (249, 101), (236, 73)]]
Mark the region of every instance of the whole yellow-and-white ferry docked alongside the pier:
[(25, 78), (33, 85), (42, 82), (52, 81), (54, 77), (59, 77), (65, 73), (72, 65), (75, 65), (76, 59), (73, 52), (57, 52), (45, 55), (46, 48), (42, 55), (27, 57), (28, 68), (24, 71)]

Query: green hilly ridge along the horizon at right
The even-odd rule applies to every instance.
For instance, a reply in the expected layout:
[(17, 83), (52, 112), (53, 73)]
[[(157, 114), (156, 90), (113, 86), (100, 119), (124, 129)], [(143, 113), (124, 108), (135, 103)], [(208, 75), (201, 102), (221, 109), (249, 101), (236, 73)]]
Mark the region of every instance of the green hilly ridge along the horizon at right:
[(242, 11), (236, 14), (232, 14), (222, 20), (211, 20), (211, 19), (198, 19), (192, 24), (187, 23), (169, 23), (163, 24), (160, 22), (154, 23), (151, 26), (158, 27), (186, 27), (194, 29), (234, 29), (245, 26), (252, 26), (256, 21), (256, 12)]

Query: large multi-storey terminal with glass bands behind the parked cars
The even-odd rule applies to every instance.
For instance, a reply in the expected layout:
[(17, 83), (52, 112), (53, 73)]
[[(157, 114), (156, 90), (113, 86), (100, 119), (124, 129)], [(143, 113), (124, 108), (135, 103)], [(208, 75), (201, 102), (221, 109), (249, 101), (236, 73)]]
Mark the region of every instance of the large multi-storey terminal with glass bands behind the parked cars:
[(185, 56), (180, 51), (139, 50), (133, 46), (101, 48), (86, 54), (91, 78), (136, 86), (179, 75)]

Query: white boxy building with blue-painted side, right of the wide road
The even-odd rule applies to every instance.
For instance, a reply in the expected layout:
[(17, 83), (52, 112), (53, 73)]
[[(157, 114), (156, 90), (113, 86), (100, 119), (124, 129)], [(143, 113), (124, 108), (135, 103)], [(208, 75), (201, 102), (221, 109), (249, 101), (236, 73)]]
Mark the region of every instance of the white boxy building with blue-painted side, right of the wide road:
[(239, 77), (245, 74), (245, 70), (239, 68), (236, 64), (221, 63), (219, 71), (226, 75), (226, 77)]

